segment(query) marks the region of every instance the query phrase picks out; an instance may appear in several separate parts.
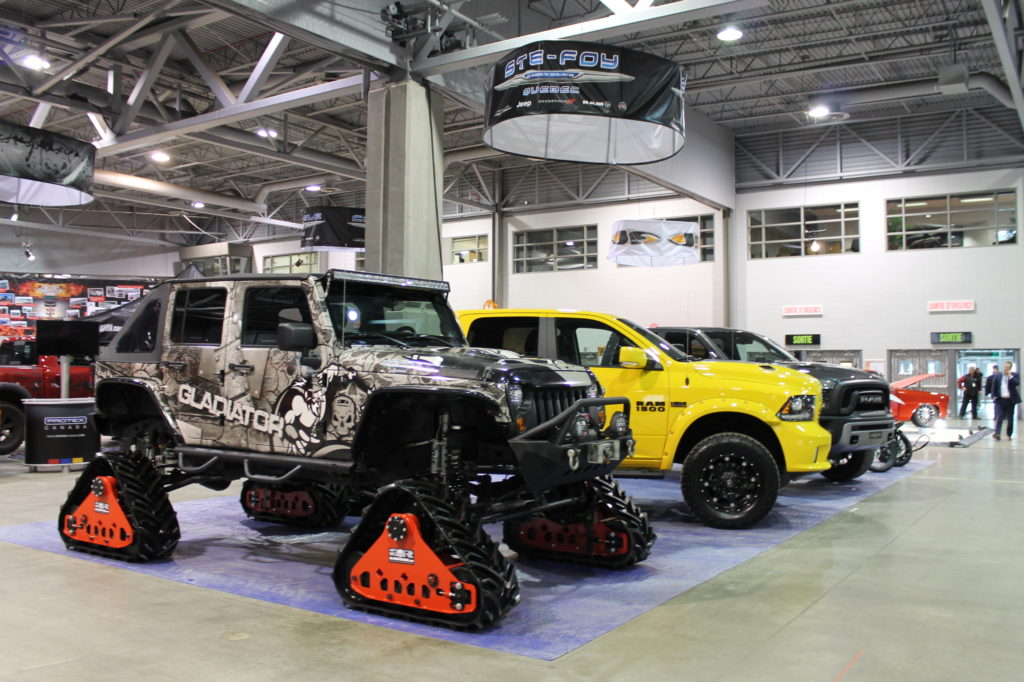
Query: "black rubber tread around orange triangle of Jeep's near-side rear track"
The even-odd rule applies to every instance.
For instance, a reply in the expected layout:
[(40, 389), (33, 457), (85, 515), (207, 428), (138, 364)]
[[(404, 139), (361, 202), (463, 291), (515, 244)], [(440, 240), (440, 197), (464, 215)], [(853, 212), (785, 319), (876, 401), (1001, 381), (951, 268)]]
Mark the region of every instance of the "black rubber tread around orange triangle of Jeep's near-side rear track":
[[(82, 542), (63, 531), (65, 519), (88, 497), (92, 479), (97, 476), (117, 479), (118, 503), (135, 536), (127, 547), (114, 549)], [(57, 531), (68, 549), (133, 562), (170, 556), (181, 538), (178, 517), (164, 492), (160, 472), (145, 456), (137, 453), (104, 453), (90, 462), (60, 507)]]

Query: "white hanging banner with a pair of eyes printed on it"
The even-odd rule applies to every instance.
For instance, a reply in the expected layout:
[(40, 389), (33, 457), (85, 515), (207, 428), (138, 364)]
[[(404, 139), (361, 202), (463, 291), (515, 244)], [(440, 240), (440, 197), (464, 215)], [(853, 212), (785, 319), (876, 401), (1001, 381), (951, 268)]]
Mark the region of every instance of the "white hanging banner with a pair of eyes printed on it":
[(700, 262), (700, 225), (680, 220), (616, 220), (608, 260), (618, 265), (665, 267)]

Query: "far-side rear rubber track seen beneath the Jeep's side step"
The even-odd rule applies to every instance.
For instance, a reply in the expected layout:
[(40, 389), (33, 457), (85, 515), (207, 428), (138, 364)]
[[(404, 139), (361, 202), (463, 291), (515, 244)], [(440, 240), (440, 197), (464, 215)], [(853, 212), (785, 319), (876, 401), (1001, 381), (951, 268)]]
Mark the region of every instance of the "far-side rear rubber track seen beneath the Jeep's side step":
[(239, 501), (246, 514), (257, 521), (303, 528), (333, 527), (350, 506), (348, 489), (341, 483), (268, 485), (247, 480)]

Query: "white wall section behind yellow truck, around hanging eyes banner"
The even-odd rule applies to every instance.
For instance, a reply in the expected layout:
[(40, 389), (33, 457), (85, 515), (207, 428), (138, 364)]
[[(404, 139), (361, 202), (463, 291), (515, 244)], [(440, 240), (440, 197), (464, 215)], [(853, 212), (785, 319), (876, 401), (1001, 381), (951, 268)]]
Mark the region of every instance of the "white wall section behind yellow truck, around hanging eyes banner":
[[(517, 230), (597, 224), (598, 267), (566, 272), (509, 271), (509, 307), (577, 308), (628, 317), (641, 325), (722, 324), (724, 310), (716, 309), (714, 263), (672, 267), (620, 267), (607, 260), (611, 226), (616, 220), (671, 218), (714, 211), (690, 199), (665, 199), (594, 206), (508, 218), (509, 245)], [(720, 224), (720, 221), (719, 221)], [(721, 240), (716, 240), (721, 244)], [(511, 256), (510, 256), (511, 257)]]

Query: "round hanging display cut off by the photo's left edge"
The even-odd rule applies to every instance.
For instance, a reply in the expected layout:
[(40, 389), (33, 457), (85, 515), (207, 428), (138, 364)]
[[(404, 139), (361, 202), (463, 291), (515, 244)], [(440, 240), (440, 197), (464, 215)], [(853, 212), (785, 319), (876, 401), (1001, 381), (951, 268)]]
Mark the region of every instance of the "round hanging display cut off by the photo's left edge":
[(0, 202), (88, 204), (95, 157), (89, 142), (0, 121)]

